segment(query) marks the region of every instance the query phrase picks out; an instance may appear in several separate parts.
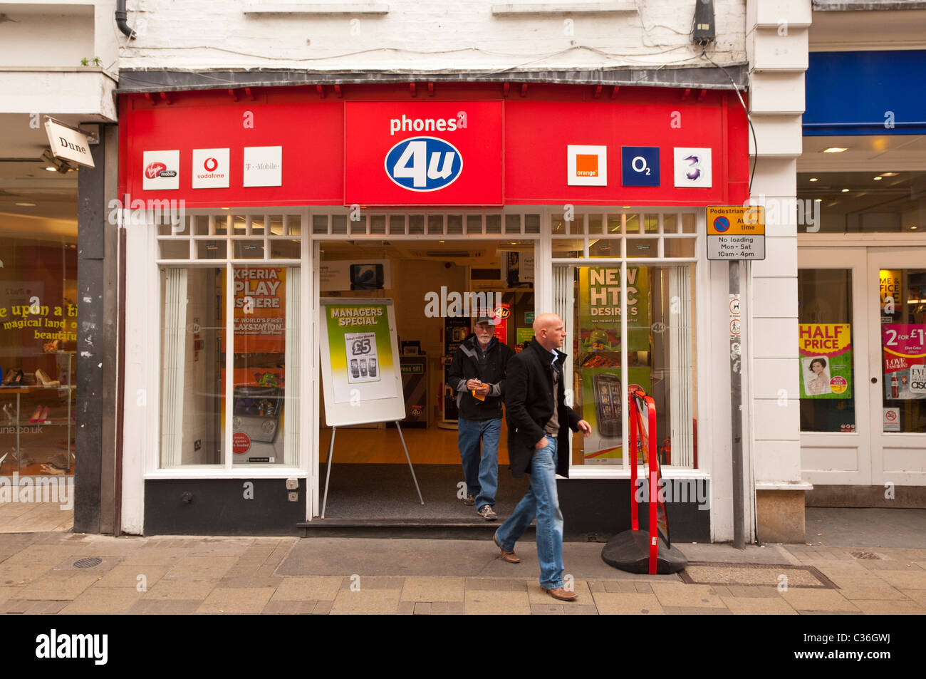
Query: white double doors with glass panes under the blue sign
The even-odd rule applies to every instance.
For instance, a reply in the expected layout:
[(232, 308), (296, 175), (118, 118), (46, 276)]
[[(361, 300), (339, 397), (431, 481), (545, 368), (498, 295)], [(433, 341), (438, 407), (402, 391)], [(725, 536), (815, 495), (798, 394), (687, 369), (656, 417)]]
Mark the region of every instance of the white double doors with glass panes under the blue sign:
[(922, 261), (910, 247), (799, 252), (803, 474), (870, 486), (868, 496), (857, 488), (856, 506), (882, 504), (893, 486), (926, 486)]

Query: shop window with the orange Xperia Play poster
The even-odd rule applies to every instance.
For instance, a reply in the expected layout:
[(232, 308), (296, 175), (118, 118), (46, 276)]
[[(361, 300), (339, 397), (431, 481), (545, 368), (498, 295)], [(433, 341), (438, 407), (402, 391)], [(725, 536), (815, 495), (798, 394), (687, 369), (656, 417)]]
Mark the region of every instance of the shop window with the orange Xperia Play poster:
[(162, 270), (161, 468), (298, 464), (300, 294), (297, 267)]

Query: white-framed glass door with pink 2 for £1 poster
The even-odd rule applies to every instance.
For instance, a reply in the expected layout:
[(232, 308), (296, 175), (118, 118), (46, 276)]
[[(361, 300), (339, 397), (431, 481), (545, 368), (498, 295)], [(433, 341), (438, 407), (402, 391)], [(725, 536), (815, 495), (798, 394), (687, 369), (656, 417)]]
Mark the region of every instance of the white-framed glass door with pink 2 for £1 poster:
[(926, 484), (924, 261), (923, 248), (869, 250), (872, 484)]

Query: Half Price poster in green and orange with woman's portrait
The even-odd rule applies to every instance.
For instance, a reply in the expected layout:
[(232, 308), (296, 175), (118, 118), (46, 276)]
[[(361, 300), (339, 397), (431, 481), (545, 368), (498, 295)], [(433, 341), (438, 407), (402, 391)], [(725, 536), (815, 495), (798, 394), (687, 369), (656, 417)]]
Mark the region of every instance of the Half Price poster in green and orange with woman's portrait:
[(801, 398), (851, 398), (850, 324), (801, 323), (798, 336)]

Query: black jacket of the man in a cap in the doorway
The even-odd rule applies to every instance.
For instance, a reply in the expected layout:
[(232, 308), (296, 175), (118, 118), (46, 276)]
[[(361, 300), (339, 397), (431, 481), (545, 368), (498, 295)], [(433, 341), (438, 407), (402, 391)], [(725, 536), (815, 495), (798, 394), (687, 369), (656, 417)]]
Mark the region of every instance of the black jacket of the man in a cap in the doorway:
[[(513, 355), (514, 352), (506, 344), (494, 337), (484, 357), (475, 334), (470, 334), (463, 340), (447, 372), (447, 381), (457, 393), (457, 409), (461, 418), (482, 421), (502, 417), (505, 370), (508, 358)], [(472, 396), (466, 388), (468, 380), (480, 380), (484, 384), (492, 385), (484, 401)]]

